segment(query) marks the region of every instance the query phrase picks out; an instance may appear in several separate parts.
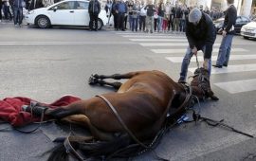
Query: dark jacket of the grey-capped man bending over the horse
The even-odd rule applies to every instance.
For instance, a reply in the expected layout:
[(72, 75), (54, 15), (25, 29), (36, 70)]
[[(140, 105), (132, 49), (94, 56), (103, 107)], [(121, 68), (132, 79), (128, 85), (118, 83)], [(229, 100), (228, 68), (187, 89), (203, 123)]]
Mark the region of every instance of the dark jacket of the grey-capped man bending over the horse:
[(194, 26), (189, 22), (188, 18), (186, 27), (186, 36), (191, 48), (195, 46), (197, 50), (201, 50), (206, 46), (206, 52), (204, 54), (205, 59), (210, 59), (212, 46), (216, 39), (216, 29), (212, 23), (210, 16), (202, 12), (202, 18), (199, 23)]

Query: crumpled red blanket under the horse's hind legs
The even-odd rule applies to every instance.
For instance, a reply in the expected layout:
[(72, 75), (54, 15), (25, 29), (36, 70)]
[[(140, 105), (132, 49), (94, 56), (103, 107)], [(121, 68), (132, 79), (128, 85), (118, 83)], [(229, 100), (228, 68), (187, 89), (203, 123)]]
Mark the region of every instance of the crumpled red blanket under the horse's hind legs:
[[(81, 98), (73, 96), (64, 96), (50, 104), (43, 104), (51, 108), (56, 108), (58, 106), (60, 107), (68, 105), (77, 100), (81, 100)], [(30, 113), (21, 110), (23, 105), (29, 105), (31, 101), (36, 100), (22, 97), (4, 98), (3, 100), (0, 100), (0, 119), (9, 122), (12, 126), (22, 126), (27, 123), (37, 121), (38, 118), (32, 118)]]

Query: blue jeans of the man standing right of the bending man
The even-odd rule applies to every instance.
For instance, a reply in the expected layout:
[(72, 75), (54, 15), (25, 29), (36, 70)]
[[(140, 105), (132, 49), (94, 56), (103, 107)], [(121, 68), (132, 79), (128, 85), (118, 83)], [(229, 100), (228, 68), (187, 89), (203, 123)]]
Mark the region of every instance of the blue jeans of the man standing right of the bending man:
[(233, 36), (234, 35), (231, 34), (222, 38), (216, 62), (217, 65), (228, 65)]

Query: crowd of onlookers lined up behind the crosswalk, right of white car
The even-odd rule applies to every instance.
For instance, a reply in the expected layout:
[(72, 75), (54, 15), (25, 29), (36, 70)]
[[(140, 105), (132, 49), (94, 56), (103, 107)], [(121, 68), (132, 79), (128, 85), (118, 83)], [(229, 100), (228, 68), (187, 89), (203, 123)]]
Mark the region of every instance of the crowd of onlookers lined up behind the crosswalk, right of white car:
[[(144, 32), (175, 32), (183, 33), (186, 28), (186, 18), (194, 7), (176, 2), (171, 4), (159, 0), (107, 0), (105, 10), (107, 15), (114, 17), (116, 30), (130, 29), (132, 31)], [(212, 20), (222, 17), (224, 14), (220, 9), (200, 6), (200, 10), (209, 14)]]

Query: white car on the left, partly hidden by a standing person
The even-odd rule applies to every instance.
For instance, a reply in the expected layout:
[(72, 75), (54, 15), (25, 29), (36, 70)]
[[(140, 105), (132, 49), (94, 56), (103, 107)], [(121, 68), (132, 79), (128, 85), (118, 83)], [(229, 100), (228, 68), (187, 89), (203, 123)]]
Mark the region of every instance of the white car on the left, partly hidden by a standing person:
[[(88, 0), (64, 0), (46, 8), (33, 9), (27, 12), (27, 25), (46, 28), (51, 26), (89, 27)], [(106, 11), (101, 9), (98, 19), (98, 29), (106, 26), (108, 18)]]

